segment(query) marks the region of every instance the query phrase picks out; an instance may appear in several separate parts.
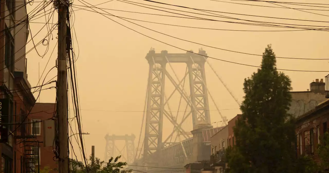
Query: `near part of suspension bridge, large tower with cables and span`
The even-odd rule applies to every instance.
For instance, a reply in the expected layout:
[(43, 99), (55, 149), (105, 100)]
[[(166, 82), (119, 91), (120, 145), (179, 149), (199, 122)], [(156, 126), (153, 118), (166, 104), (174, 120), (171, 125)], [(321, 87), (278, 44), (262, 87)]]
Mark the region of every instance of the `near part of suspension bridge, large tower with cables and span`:
[[(202, 48), (198, 53), (193, 51), (168, 53), (166, 50), (155, 53), (151, 48), (146, 55), (149, 72), (141, 125), (144, 134), (139, 136), (137, 151), (134, 151), (134, 162), (128, 163), (139, 166), (134, 169), (184, 168), (188, 163), (210, 159), (210, 137), (227, 122), (207, 87), (206, 64), (238, 105), (240, 102), (215, 72), (207, 57), (206, 51)], [(182, 66), (186, 66), (185, 73), (182, 71)], [(166, 84), (167, 80), (169, 85)], [(173, 91), (167, 95), (165, 89), (169, 88)], [(209, 98), (223, 121), (222, 127), (211, 126)], [(170, 125), (172, 130), (167, 127)], [(129, 156), (131, 158), (131, 154)]]

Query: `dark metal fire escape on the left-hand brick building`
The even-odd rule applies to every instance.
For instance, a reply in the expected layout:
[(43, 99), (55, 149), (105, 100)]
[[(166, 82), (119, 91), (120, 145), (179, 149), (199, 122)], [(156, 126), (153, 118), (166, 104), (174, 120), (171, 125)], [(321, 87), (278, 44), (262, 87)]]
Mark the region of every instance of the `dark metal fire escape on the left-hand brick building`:
[[(21, 101), (15, 102), (18, 109), (16, 109), (16, 122), (21, 123), (18, 129), (16, 130), (16, 141), (19, 143), (20, 148), (23, 150), (22, 165), (24, 173), (39, 173), (40, 168), (39, 164), (39, 143), (36, 135), (36, 123), (31, 122), (27, 117), (28, 111), (26, 111), (25, 106)], [(20, 111), (18, 111), (20, 110)], [(20, 116), (19, 116), (20, 115)], [(34, 129), (32, 128), (34, 127)]]

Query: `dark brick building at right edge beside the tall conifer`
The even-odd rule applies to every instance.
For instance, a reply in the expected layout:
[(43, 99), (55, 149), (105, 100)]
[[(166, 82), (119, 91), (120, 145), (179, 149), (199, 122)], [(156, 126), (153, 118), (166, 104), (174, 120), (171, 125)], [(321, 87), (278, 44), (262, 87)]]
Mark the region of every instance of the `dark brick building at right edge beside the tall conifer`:
[(329, 100), (298, 117), (296, 122), (297, 154), (309, 155), (317, 162), (316, 150), (320, 136), (328, 131)]

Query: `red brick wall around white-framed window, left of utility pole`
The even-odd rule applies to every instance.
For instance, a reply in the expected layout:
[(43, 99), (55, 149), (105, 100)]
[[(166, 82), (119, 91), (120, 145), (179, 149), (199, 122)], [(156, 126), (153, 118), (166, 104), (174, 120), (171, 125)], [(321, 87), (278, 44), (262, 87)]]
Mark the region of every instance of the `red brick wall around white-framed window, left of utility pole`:
[[(31, 119), (46, 120), (53, 117), (55, 111), (55, 103), (36, 103), (31, 111)], [(39, 141), (43, 141), (43, 124), (41, 122), (41, 134), (37, 136)], [(49, 167), (52, 169), (49, 173), (58, 172), (58, 163), (53, 152), (53, 147), (43, 147), (40, 144), (40, 169), (44, 167)], [(55, 159), (55, 160), (54, 160)]]

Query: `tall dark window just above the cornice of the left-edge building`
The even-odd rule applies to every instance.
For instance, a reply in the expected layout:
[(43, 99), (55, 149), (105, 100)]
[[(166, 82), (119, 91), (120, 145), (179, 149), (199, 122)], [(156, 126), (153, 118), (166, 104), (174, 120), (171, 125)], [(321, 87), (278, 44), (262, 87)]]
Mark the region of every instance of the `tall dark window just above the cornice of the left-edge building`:
[(9, 29), (6, 27), (5, 31), (5, 65), (8, 68), (8, 70), (12, 73), (14, 73), (14, 62), (15, 62), (15, 47), (14, 47), (14, 38), (12, 34), (10, 33)]

